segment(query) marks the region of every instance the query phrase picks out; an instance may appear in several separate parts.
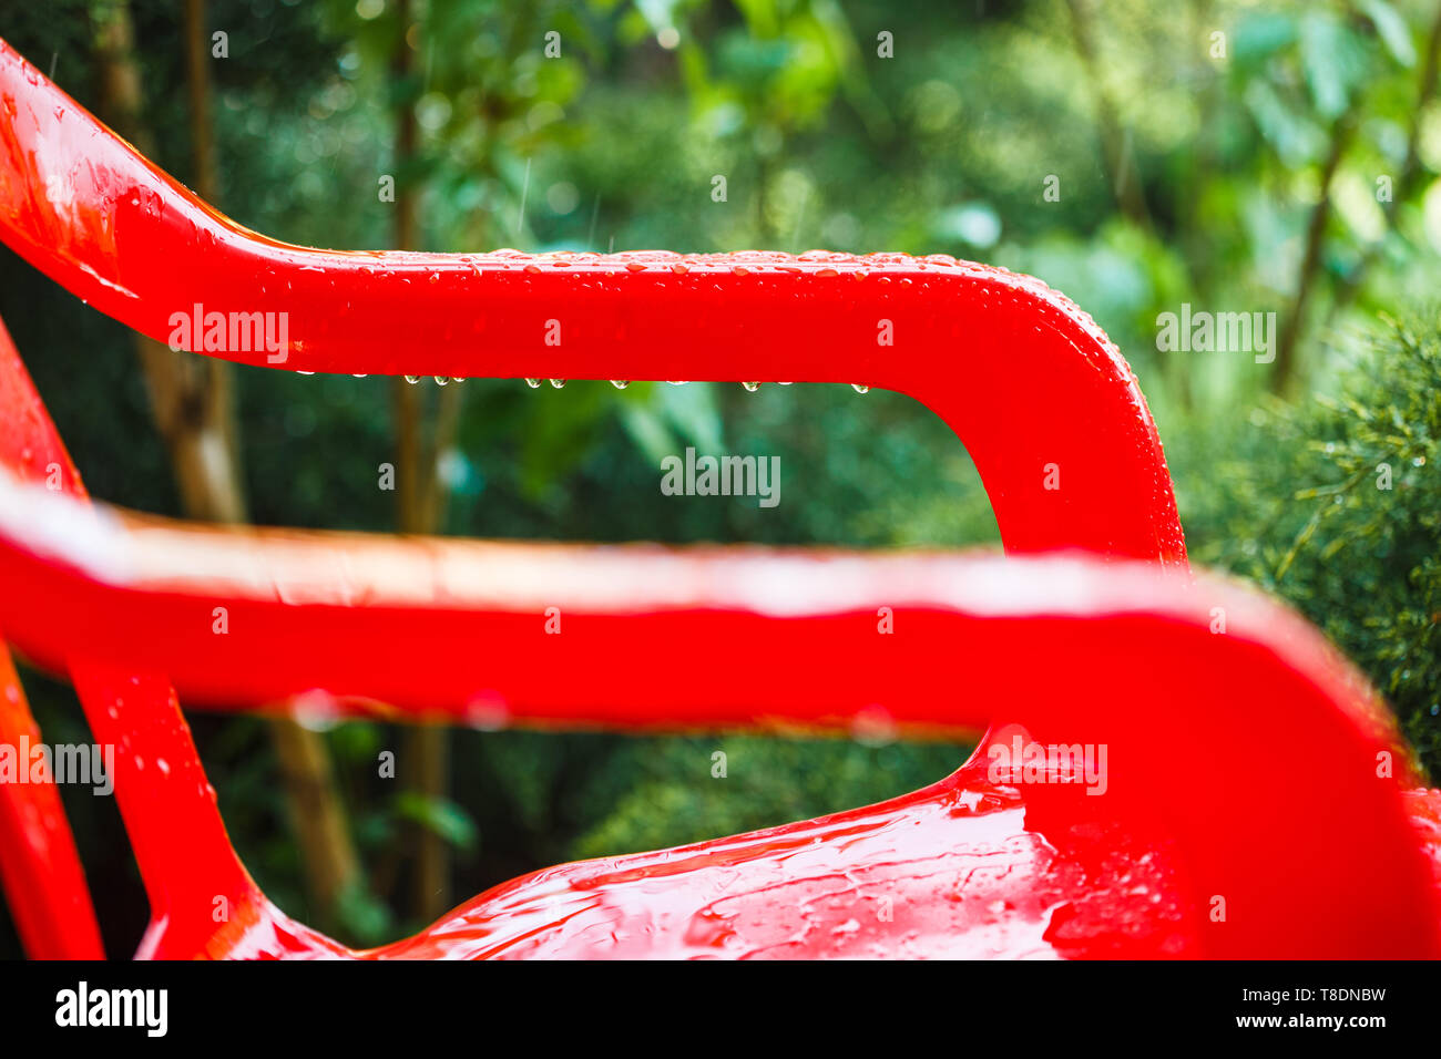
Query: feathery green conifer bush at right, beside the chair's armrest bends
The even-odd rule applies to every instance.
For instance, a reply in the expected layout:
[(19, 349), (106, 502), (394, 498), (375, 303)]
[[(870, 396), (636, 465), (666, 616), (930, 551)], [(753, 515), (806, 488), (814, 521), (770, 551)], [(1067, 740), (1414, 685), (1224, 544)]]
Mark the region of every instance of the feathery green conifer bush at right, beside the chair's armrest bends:
[(1334, 398), (1258, 405), (1167, 451), (1193, 559), (1326, 630), (1441, 775), (1441, 326), (1388, 321), (1368, 347)]

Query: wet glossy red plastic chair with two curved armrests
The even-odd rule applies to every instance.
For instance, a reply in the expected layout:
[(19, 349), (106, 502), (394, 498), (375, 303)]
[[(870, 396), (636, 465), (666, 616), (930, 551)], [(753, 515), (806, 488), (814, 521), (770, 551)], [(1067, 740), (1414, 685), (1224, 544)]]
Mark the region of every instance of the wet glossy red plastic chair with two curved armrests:
[[(69, 671), (120, 751), (153, 906), (141, 955), (1435, 955), (1434, 847), (1409, 818), (1424, 795), (1402, 790), (1417, 779), (1383, 709), (1304, 622), (1189, 578), (1134, 377), (1040, 284), (899, 256), (284, 246), (195, 200), (4, 46), (0, 104), (0, 233), (154, 337), (167, 310), (200, 304), (288, 313), (293, 370), (901, 389), (965, 439), (1007, 550), (1092, 553), (393, 542), (115, 516), (84, 506), (6, 350), (0, 630)], [(61, 490), (22, 484), (52, 464)], [(1043, 487), (1048, 464), (1061, 490)], [(546, 607), (565, 614), (559, 637)], [(635, 664), (696, 643), (745, 661), (686, 686)], [(349, 713), (487, 725), (846, 729), (879, 710), (901, 733), (1006, 725), (912, 795), (548, 869), (356, 954), (251, 882), (176, 689), (219, 707), (324, 689)], [(1105, 748), (1104, 795), (1071, 765), (993, 769), (1016, 725), (1038, 745)], [(42, 909), (26, 937), (63, 921)]]

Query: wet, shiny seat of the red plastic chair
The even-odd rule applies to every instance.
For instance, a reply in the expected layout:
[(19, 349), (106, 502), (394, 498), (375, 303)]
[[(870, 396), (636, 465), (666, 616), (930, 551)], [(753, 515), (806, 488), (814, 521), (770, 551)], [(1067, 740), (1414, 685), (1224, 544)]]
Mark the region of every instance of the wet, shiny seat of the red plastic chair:
[[(878, 805), (559, 864), (405, 941), (346, 949), (264, 898), (212, 958), (1196, 958), (1174, 844), (1104, 814), (1043, 830), (977, 754)], [(1441, 791), (1405, 792), (1441, 892)], [(1082, 803), (1084, 804), (1084, 803)], [(839, 853), (844, 853), (842, 859)], [(849, 867), (837, 870), (837, 863)], [(258, 890), (256, 890), (258, 893)], [(163, 948), (151, 955), (166, 955)], [(193, 955), (193, 954), (184, 954)]]

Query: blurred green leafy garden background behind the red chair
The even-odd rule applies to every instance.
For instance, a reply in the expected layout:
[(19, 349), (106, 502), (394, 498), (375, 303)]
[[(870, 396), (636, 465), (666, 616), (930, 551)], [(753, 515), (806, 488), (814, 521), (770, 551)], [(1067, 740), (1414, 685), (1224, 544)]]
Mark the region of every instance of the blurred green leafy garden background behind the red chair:
[[(1140, 375), (1196, 560), (1300, 607), (1441, 765), (1441, 104), (1434, 0), (209, 0), (218, 200), (291, 242), (415, 248), (948, 252), (1085, 307)], [(134, 26), (156, 160), (197, 179), (183, 20), (157, 0), (0, 0), (0, 36), (105, 112), (97, 26)], [(546, 32), (562, 55), (543, 56)], [(893, 36), (893, 58), (878, 35)], [(1223, 35), (1223, 53), (1216, 33)], [(399, 56), (399, 59), (398, 59)], [(409, 125), (402, 148), (396, 130)], [(712, 200), (726, 176), (728, 199)], [(1043, 195), (1059, 180), (1059, 200)], [(1389, 184), (1389, 199), (1382, 192)], [(525, 209), (522, 209), (525, 199)], [(1160, 353), (1185, 301), (1275, 311), (1290, 352)], [(114, 321), (0, 251), (4, 316), (95, 496), (180, 514)], [(422, 415), (441, 408), (429, 382)], [(438, 426), (438, 532), (486, 537), (994, 545), (964, 450), (906, 398), (849, 388), (471, 380)], [(393, 530), (375, 487), (388, 380), (233, 375), (249, 514)], [(663, 499), (660, 454), (768, 452), (784, 500)], [(1393, 468), (1378, 488), (1378, 465)], [(3, 591), (3, 588), (0, 588)], [(395, 658), (425, 666), (425, 658)], [(631, 664), (657, 664), (635, 660)], [(669, 660), (677, 680), (703, 660)], [(699, 669), (696, 679), (703, 679)], [(52, 742), (88, 741), (72, 692), (24, 671)], [(455, 899), (517, 873), (778, 824), (940, 778), (965, 748), (715, 735), (452, 732), (440, 794), (375, 777), (402, 733), (324, 730), (362, 872), (307, 886), (256, 719), (192, 716), (232, 837), (282, 908), (373, 944), (432, 915), (418, 843)], [(712, 779), (710, 755), (729, 756)], [(104, 925), (127, 954), (144, 898), (108, 800), (65, 791)], [(19, 952), (0, 916), (0, 952)]]

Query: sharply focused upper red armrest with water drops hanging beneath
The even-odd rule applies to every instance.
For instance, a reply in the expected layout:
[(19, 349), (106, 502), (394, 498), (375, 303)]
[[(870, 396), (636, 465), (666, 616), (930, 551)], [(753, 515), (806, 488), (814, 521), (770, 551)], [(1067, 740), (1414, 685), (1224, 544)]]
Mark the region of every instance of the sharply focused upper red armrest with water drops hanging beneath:
[[(275, 242), (199, 202), (0, 40), (0, 236), (160, 341), (174, 314), (280, 314), (287, 370), (863, 383), (965, 442), (1013, 552), (1185, 562), (1136, 377), (1038, 280), (880, 254), (405, 254)], [(889, 344), (883, 344), (889, 341)], [(239, 343), (238, 343), (239, 344)], [(1062, 488), (1043, 488), (1056, 464)]]

